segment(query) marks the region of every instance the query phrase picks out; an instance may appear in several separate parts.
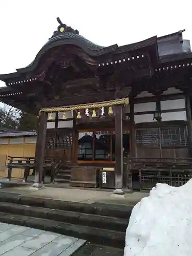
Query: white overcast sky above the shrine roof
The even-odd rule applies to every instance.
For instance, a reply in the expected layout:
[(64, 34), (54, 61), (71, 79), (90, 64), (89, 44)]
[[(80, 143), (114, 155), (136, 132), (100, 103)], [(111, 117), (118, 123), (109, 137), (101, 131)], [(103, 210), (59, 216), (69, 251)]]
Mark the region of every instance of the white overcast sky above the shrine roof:
[(182, 29), (192, 41), (191, 7), (189, 0), (0, 0), (0, 74), (29, 65), (57, 29), (56, 17), (101, 46)]

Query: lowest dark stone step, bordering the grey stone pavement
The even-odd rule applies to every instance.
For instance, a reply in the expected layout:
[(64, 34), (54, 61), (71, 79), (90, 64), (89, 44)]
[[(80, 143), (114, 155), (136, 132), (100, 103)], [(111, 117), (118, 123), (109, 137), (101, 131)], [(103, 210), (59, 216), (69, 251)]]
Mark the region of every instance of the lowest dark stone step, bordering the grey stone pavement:
[(95, 244), (124, 248), (125, 233), (0, 212), (0, 222), (42, 229), (84, 239)]

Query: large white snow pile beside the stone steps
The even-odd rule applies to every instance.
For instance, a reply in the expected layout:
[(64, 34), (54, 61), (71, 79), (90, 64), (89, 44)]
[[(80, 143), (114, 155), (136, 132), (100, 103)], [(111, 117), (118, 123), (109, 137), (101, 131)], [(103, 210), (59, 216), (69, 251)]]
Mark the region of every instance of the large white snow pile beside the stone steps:
[(135, 205), (124, 256), (192, 255), (192, 179), (181, 187), (158, 183)]

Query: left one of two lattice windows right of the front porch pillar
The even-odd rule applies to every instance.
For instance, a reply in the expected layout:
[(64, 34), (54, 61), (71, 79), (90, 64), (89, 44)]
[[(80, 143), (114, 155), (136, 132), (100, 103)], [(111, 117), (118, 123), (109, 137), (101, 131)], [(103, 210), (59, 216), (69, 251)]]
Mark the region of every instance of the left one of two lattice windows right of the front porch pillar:
[(159, 129), (136, 130), (136, 143), (140, 146), (160, 145)]

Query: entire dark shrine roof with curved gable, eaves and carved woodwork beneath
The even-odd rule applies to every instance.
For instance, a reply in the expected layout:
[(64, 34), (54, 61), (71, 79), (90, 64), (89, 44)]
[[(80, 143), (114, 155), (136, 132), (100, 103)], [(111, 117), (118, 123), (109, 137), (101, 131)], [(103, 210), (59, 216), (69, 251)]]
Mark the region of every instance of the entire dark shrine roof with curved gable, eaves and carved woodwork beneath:
[(29, 66), (0, 75), (7, 86), (0, 88), (0, 101), (37, 114), (45, 107), (114, 100), (129, 96), (131, 83), (152, 77), (163, 65), (192, 63), (183, 31), (103, 47), (57, 21), (57, 31)]

